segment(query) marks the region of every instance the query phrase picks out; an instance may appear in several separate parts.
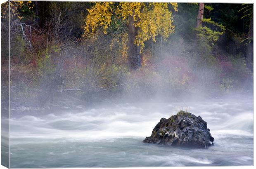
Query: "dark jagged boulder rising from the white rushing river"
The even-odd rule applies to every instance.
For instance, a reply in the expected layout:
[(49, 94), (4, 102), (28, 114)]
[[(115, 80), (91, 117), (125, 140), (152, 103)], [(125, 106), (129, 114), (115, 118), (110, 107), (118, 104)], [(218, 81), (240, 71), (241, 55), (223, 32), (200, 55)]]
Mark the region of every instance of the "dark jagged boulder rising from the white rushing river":
[(161, 118), (151, 136), (146, 137), (143, 142), (207, 148), (213, 146), (213, 141), (207, 123), (200, 116), (180, 111), (168, 119)]

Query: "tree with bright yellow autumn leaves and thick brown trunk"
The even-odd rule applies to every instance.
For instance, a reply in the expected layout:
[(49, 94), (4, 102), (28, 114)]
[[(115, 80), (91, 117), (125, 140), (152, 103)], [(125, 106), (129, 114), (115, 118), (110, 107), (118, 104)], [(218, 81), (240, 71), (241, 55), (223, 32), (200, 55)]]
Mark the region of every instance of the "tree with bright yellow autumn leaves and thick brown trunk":
[(85, 18), (85, 35), (94, 34), (99, 28), (107, 33), (114, 17), (126, 21), (129, 67), (137, 69), (144, 42), (151, 38), (155, 42), (157, 35), (166, 39), (174, 32), (171, 7), (178, 11), (177, 3), (95, 2)]

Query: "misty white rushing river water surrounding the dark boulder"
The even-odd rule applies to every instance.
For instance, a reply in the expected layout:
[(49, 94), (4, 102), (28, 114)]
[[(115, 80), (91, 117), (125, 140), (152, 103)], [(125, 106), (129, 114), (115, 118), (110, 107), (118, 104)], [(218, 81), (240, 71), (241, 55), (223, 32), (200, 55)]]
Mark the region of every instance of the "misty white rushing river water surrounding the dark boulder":
[[(178, 148), (142, 143), (162, 117), (200, 115), (215, 146)], [(218, 99), (118, 104), (80, 113), (10, 120), (12, 168), (253, 165), (253, 102)]]

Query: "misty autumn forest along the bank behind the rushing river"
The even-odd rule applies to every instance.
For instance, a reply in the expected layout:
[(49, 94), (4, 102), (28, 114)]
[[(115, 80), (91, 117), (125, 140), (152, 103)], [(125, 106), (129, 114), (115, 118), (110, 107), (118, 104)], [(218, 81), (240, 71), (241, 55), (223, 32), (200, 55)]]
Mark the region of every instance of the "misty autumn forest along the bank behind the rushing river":
[[(253, 89), (253, 4), (10, 1), (11, 107), (218, 97)], [(8, 92), (1, 93), (2, 106)]]

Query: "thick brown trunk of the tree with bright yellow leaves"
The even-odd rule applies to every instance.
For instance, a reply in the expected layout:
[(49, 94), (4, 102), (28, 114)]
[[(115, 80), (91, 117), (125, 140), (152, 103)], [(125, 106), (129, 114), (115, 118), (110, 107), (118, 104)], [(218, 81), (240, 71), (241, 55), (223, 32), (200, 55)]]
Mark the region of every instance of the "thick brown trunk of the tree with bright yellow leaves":
[(133, 16), (129, 16), (128, 23), (128, 57), (130, 69), (137, 69), (141, 65), (139, 47), (134, 43), (137, 35), (137, 28), (134, 26)]

